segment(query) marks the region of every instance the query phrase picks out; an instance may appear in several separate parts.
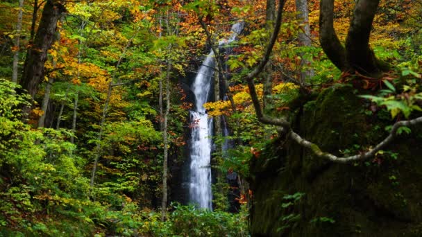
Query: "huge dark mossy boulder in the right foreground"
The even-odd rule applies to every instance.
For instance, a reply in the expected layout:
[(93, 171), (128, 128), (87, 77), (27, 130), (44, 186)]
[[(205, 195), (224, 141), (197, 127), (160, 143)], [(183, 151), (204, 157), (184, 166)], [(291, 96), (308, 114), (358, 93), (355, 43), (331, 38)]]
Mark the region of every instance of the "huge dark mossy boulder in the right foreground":
[[(353, 88), (329, 88), (296, 110), (294, 130), (323, 150), (355, 153), (381, 141), (392, 123), (366, 107)], [(252, 235), (422, 236), (421, 137), (412, 128), (377, 158), (353, 164), (271, 143), (251, 161)]]

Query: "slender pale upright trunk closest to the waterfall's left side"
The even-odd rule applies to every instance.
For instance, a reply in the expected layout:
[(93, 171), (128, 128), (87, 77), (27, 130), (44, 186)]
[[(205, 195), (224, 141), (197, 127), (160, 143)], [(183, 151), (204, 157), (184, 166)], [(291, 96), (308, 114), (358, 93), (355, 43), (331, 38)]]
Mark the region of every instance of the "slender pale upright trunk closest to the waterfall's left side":
[(164, 114), (162, 139), (164, 140), (164, 158), (162, 164), (162, 202), (161, 202), (161, 220), (164, 221), (167, 216), (167, 164), (169, 161), (169, 138), (167, 132), (167, 123), (170, 113), (170, 71), (171, 62), (167, 62), (166, 74), (166, 112)]

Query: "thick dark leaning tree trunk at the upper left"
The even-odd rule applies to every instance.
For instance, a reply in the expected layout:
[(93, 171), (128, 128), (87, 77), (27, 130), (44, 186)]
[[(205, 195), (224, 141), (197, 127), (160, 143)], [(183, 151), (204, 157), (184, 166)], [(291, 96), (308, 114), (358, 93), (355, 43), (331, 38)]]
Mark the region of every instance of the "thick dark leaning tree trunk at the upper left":
[(20, 84), (32, 98), (37, 93), (37, 86), (44, 78), (44, 63), (47, 60), (47, 51), (56, 38), (57, 22), (63, 12), (65, 12), (65, 7), (61, 3), (47, 0), (33, 46), (28, 49), (24, 64), (24, 75)]

